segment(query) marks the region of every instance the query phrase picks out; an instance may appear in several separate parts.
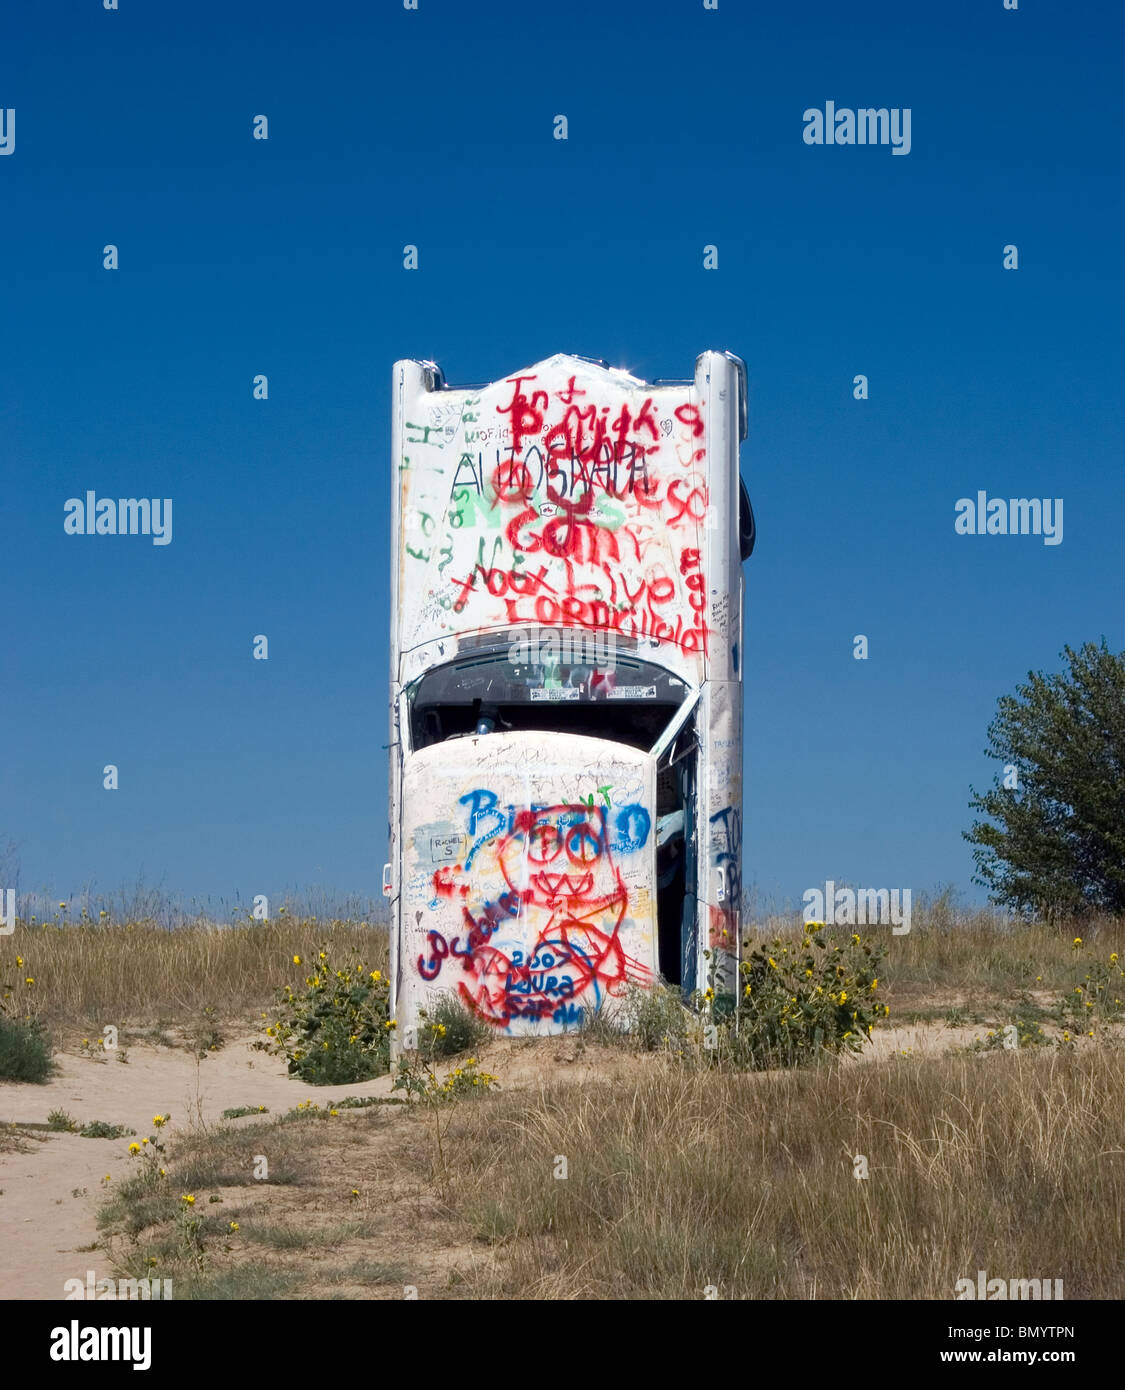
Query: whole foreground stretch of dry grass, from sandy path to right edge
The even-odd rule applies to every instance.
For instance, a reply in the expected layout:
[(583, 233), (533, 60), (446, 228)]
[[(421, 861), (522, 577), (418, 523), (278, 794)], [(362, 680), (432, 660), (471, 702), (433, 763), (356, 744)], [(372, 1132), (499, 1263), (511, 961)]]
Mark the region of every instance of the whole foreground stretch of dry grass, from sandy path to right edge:
[[(143, 1236), (117, 1254), (156, 1257), (178, 1297), (948, 1300), (978, 1269), (1125, 1294), (1125, 1070), (1107, 1044), (802, 1073), (642, 1063), (626, 1086), (458, 1104), (448, 1201), (413, 1111), (196, 1136), (170, 1190), (222, 1193), (203, 1266), (177, 1250), (174, 1201), (128, 1193), (114, 1225)], [(231, 1187), (253, 1152), (285, 1155), (298, 1186)]]

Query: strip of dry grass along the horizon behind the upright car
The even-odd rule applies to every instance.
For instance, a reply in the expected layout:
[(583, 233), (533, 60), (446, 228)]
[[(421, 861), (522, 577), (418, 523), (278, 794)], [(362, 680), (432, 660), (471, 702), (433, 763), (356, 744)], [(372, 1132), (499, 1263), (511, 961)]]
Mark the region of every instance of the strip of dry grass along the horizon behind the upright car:
[[(745, 935), (800, 938), (795, 913), (747, 916)], [(943, 898), (915, 905), (912, 930), (893, 937), (889, 929), (865, 929), (886, 940), (886, 994), (894, 1016), (908, 1011), (941, 1012), (951, 1002), (983, 1006), (1021, 991), (1065, 992), (1082, 979), (1071, 941), (1081, 930), (1087, 951), (1125, 955), (1125, 923), (1106, 919), (1083, 929), (1005, 924), (989, 910), (955, 912)], [(334, 954), (356, 947), (375, 969), (387, 969), (388, 935), (381, 923), (281, 917), (263, 924), (217, 926), (210, 922), (161, 927), (125, 924), (19, 923), (0, 942), (0, 977), (18, 951), (35, 979), (33, 999), (44, 1019), (70, 1029), (106, 1023), (195, 1024), (203, 1009), (227, 1022), (257, 1019), (274, 991), (292, 983), (291, 960), (307, 956), (320, 941)], [(1042, 977), (1039, 980), (1037, 977)], [(17, 988), (22, 986), (17, 980)]]

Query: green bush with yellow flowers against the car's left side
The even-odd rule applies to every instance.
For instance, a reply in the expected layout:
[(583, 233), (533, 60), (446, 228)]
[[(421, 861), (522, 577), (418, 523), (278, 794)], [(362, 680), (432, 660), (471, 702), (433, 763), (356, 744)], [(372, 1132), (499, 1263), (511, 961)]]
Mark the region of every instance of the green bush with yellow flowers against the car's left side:
[[(302, 965), (295, 955), (293, 965)], [(289, 1074), (310, 1086), (369, 1081), (391, 1066), (391, 981), (371, 970), (357, 951), (350, 965), (335, 967), (327, 942), (317, 952), (305, 990), (285, 986), (277, 1019), (266, 1026), (259, 1051), (284, 1056)]]

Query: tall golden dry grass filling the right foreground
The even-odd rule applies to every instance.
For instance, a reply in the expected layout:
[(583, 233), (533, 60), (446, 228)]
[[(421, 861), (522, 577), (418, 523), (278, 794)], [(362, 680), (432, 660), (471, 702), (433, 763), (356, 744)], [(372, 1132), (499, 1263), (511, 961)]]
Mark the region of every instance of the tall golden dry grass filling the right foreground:
[(1119, 1298), (1124, 1118), (1090, 1048), (654, 1074), (489, 1099), (446, 1145), (503, 1250), (477, 1297), (951, 1298), (986, 1269)]

